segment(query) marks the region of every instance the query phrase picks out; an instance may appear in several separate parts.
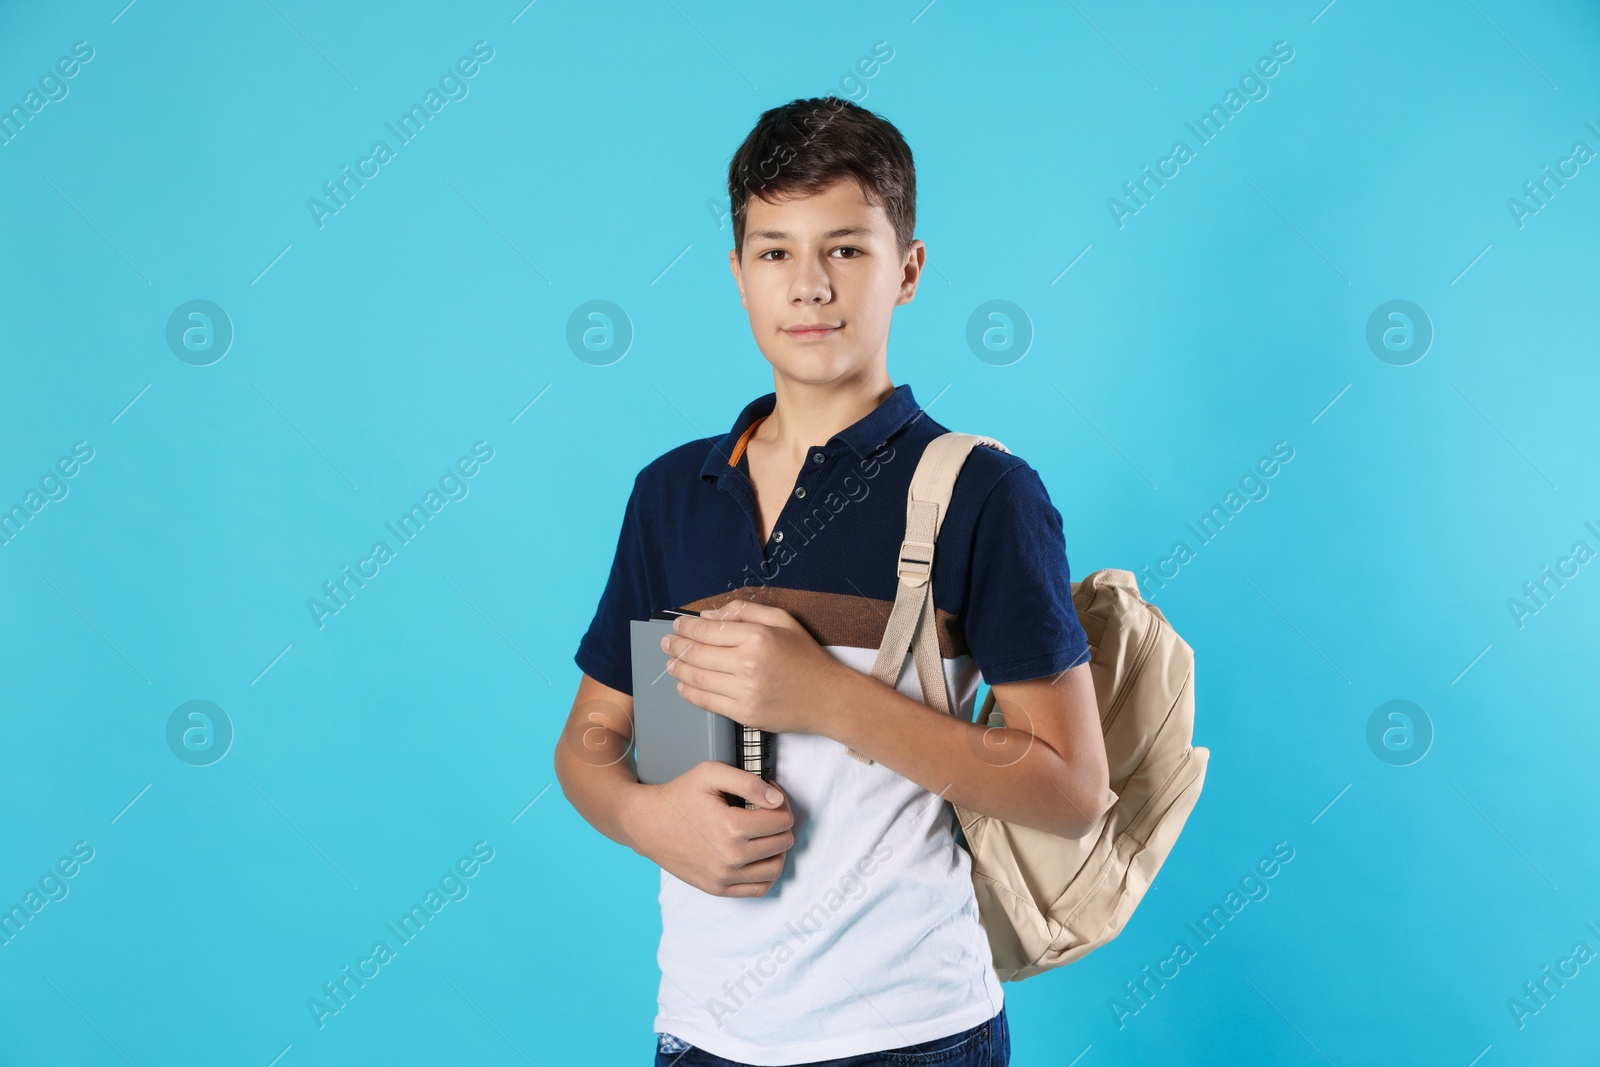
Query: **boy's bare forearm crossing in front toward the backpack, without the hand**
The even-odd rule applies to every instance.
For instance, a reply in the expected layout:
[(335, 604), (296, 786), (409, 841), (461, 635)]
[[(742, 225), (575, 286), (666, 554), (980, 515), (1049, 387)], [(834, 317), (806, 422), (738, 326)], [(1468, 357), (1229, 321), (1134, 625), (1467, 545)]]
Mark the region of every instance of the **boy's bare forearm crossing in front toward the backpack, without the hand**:
[(842, 667), (824, 688), (829, 737), (979, 814), (1059, 837), (1094, 824), (1104, 805), (1083, 797), (1075, 766), (1034, 734), (962, 721)]

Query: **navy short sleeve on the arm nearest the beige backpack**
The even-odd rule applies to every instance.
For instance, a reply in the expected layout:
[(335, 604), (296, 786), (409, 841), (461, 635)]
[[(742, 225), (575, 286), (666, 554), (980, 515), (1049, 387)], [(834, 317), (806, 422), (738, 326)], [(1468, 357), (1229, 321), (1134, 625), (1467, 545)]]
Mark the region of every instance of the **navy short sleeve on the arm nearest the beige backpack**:
[(1061, 512), (1027, 464), (1003, 474), (984, 499), (968, 582), (966, 646), (989, 685), (1043, 678), (1088, 661)]

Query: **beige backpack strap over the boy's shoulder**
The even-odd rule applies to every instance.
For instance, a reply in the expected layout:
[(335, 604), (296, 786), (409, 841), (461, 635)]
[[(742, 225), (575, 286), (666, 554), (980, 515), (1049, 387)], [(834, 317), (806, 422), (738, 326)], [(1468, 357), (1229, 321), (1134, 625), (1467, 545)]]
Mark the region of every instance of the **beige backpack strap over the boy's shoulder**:
[[(990, 437), (941, 434), (928, 443), (922, 459), (917, 461), (906, 494), (906, 539), (901, 541), (896, 565), (899, 587), (894, 592), (894, 611), (890, 613), (878, 657), (872, 664), (872, 677), (894, 688), (906, 664), (906, 653), (910, 651), (917, 662), (923, 702), (944, 713), (950, 713), (952, 704), (944, 680), (933, 608), (933, 545), (950, 509), (955, 478), (978, 445), (1010, 453)], [(854, 749), (845, 750), (862, 763), (874, 763)]]

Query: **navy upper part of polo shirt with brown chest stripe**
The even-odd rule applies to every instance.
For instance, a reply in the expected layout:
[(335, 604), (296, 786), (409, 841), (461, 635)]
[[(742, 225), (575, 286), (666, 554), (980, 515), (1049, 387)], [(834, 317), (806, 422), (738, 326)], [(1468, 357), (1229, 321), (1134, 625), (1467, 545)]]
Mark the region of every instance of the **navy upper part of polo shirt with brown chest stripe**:
[[(774, 405), (776, 394), (752, 400), (722, 437), (680, 445), (634, 478), (611, 573), (574, 656), (586, 675), (632, 694), (630, 619), (734, 597), (787, 609), (819, 645), (870, 670), (862, 649), (877, 651), (894, 605), (907, 488), (923, 450), (949, 430), (898, 386), (806, 450), (763, 544), (744, 448)], [(1021, 458), (984, 446), (968, 456), (934, 550), (933, 603), (952, 677), (976, 665), (989, 685), (1022, 681), (1088, 659), (1061, 512)], [(954, 702), (971, 718), (976, 680), (963, 688)]]

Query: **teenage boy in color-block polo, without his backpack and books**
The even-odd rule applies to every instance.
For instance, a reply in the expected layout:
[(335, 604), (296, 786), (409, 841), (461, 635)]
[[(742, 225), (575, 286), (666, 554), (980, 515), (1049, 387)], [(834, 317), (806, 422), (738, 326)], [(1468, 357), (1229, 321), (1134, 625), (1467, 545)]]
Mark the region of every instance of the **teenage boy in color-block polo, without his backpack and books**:
[[(728, 194), (774, 390), (635, 477), (555, 773), (661, 867), (658, 1064), (1000, 1067), (952, 803), (1080, 837), (1109, 798), (1061, 514), (1027, 462), (973, 450), (933, 563), (957, 710), (920, 702), (910, 656), (896, 688), (874, 678), (910, 477), (946, 432), (886, 366), (926, 256), (910, 149), (854, 104), (794, 101), (760, 117)], [(659, 608), (701, 613), (662, 640), (683, 696), (778, 734), (771, 787), (715, 761), (637, 781), (629, 621)], [(971, 721), (979, 677), (1005, 728)]]

